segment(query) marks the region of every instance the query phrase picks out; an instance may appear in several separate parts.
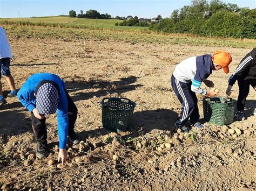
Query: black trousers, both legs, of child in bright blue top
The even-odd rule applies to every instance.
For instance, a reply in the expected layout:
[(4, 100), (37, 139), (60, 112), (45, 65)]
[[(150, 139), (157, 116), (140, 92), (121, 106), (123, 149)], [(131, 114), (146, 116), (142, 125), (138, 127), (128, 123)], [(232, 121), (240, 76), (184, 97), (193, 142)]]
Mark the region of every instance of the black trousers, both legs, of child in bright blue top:
[[(68, 98), (68, 112), (69, 112), (69, 130), (68, 130), (68, 136), (73, 138), (76, 137), (76, 133), (74, 131), (75, 123), (77, 119), (77, 107), (76, 104), (71, 99), (68, 92), (65, 90), (66, 97)], [(45, 126), (45, 118), (38, 119), (33, 115), (33, 112), (31, 112), (31, 120), (32, 120), (32, 128), (36, 136), (37, 142), (42, 142), (43, 144), (47, 144), (47, 131)]]

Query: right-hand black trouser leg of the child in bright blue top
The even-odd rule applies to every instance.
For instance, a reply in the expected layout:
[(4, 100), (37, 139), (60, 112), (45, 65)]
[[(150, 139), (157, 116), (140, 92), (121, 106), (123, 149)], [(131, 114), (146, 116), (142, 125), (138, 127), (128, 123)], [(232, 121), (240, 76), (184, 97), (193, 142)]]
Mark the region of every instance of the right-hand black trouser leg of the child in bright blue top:
[(68, 92), (65, 90), (66, 97), (68, 98), (68, 112), (69, 112), (69, 131), (68, 135), (71, 139), (77, 139), (78, 136), (76, 135), (74, 128), (75, 123), (77, 120), (77, 107), (76, 104), (73, 102), (72, 98), (68, 94)]

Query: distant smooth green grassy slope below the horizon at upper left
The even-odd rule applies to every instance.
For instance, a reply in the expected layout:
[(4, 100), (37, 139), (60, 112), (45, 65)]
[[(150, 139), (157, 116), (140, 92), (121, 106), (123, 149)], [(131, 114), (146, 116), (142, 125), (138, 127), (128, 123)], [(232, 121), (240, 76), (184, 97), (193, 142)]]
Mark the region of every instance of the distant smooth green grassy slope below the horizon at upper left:
[(82, 25), (88, 27), (99, 27), (104, 29), (117, 30), (148, 30), (148, 27), (130, 27), (130, 26), (114, 26), (114, 23), (122, 23), (123, 20), (117, 19), (86, 19), (71, 17), (35, 17), (35, 18), (2, 18), (0, 22), (8, 20), (8, 22), (31, 22), (31, 23), (51, 23), (51, 24), (70, 24)]

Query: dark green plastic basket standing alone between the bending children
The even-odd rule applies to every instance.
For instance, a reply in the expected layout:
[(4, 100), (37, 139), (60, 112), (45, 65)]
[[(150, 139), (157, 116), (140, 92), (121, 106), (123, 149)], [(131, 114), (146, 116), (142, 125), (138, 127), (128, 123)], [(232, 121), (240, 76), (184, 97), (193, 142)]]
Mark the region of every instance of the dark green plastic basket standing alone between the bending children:
[(102, 104), (102, 126), (109, 131), (124, 132), (132, 121), (136, 103), (124, 97), (104, 98)]

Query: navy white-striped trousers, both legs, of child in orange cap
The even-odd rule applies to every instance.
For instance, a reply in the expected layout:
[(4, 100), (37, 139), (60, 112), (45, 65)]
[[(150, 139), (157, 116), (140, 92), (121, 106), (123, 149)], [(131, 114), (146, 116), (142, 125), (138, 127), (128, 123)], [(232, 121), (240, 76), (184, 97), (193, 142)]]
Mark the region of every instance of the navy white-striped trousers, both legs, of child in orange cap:
[(172, 89), (182, 104), (181, 113), (179, 119), (177, 120), (177, 123), (180, 125), (185, 125), (184, 123), (189, 118), (190, 122), (194, 124), (200, 118), (197, 106), (197, 96), (196, 93), (191, 90), (191, 84), (192, 82), (180, 82), (173, 75), (171, 77)]

